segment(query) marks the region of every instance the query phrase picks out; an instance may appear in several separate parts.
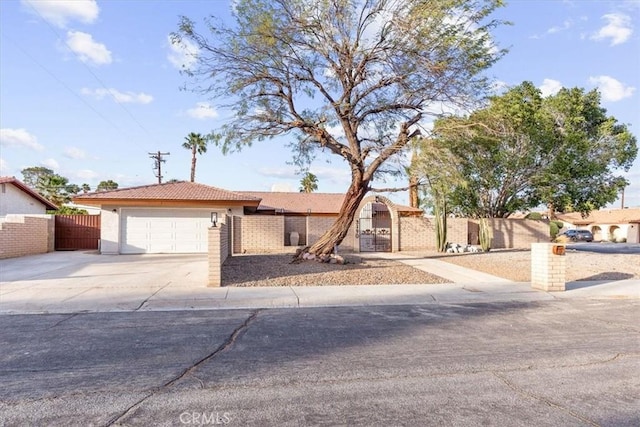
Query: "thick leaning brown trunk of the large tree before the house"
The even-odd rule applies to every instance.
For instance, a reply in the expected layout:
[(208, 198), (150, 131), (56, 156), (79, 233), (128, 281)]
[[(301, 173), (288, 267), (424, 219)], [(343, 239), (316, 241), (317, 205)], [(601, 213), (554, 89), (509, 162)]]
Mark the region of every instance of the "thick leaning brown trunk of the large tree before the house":
[(308, 252), (318, 255), (329, 255), (333, 253), (333, 250), (338, 246), (347, 233), (349, 227), (353, 223), (353, 220), (358, 213), (358, 207), (360, 202), (364, 199), (364, 196), (369, 191), (368, 182), (354, 179), (349, 186), (349, 191), (342, 202), (340, 213), (336, 222), (309, 248)]

